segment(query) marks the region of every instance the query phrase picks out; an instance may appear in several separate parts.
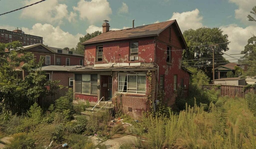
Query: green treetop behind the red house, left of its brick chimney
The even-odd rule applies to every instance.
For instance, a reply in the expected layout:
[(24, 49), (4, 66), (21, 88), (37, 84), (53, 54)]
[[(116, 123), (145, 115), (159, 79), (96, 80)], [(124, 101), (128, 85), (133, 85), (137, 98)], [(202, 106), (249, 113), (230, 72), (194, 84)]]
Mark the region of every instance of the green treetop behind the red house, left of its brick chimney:
[(79, 42), (77, 43), (76, 49), (70, 49), (70, 51), (74, 51), (75, 53), (83, 55), (84, 54), (84, 46), (81, 45), (81, 43), (83, 43), (84, 41), (89, 40), (93, 37), (96, 37), (100, 34), (101, 34), (101, 31), (95, 31), (91, 34), (87, 33), (86, 35), (84, 35), (84, 37), (79, 38)]

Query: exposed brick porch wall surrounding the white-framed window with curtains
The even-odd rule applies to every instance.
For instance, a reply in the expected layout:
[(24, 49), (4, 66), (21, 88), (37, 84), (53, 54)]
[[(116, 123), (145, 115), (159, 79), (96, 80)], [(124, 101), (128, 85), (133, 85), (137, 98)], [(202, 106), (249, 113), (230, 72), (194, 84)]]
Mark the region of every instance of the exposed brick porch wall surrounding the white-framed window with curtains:
[[(143, 112), (150, 110), (151, 100), (156, 97), (156, 75), (155, 71), (150, 72), (146, 75), (146, 94), (118, 94), (112, 99), (115, 110), (118, 111), (121, 108), (121, 112), (128, 114), (133, 118), (139, 118)], [(118, 93), (118, 73), (113, 73), (112, 82), (112, 94), (113, 96)], [(132, 108), (132, 111), (128, 111), (128, 107)]]

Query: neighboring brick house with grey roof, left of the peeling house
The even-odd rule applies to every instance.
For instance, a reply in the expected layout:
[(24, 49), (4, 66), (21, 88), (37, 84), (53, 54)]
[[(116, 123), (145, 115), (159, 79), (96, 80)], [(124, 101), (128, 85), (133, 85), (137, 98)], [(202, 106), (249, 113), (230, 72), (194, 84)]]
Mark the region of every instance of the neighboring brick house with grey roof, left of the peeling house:
[[(47, 79), (60, 80), (57, 85), (73, 87), (73, 72), (68, 72), (68, 69), (83, 66), (83, 55), (60, 48), (48, 47), (42, 43), (27, 45), (23, 48), (34, 54), (36, 63), (39, 62), (40, 56), (45, 56), (42, 70), (46, 72)], [(24, 62), (21, 62), (20, 67), (23, 64)], [(25, 75), (26, 72), (20, 70), (19, 76), (24, 78)]]

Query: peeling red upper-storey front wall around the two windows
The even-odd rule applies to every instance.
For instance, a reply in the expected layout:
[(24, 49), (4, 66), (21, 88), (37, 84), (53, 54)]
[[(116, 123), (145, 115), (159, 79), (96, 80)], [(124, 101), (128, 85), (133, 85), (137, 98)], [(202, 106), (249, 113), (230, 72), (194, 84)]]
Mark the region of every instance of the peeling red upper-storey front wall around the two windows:
[[(138, 61), (129, 61), (130, 42), (103, 44), (103, 60), (100, 63), (133, 63), (154, 62), (154, 39), (140, 39), (138, 41)], [(84, 64), (92, 65), (96, 62), (96, 46), (85, 47)]]

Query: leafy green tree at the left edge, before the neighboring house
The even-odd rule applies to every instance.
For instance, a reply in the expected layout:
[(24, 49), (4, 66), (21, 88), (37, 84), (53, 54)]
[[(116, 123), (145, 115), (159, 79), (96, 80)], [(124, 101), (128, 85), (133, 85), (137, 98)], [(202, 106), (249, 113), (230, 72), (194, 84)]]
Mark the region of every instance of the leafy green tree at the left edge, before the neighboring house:
[[(48, 81), (41, 70), (44, 57), (36, 64), (33, 54), (26, 52), (18, 41), (0, 43), (0, 54), (0, 102), (13, 113), (26, 112), (29, 108), (27, 103), (34, 103), (36, 98), (46, 94)], [(25, 62), (22, 67), (21, 62)], [(22, 70), (28, 73), (24, 79), (18, 77)]]

